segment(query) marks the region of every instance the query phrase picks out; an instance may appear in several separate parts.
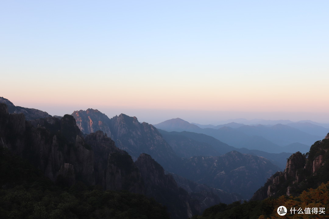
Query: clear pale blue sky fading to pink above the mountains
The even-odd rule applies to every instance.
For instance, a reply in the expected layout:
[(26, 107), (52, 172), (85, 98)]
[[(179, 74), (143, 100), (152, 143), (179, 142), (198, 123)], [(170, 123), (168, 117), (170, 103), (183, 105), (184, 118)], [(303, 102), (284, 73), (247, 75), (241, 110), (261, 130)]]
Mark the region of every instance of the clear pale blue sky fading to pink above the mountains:
[(328, 1), (0, 2), (0, 96), (98, 109), (329, 123)]

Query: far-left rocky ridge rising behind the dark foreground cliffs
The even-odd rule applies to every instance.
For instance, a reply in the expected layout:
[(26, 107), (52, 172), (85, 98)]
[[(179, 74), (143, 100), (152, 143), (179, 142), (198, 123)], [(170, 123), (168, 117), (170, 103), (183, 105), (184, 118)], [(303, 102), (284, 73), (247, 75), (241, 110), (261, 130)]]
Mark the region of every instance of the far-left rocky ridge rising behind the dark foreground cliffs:
[(0, 97), (0, 103), (5, 103), (8, 106), (9, 113), (23, 113), (25, 115), (26, 120), (35, 120), (39, 118), (50, 117), (48, 113), (43, 112), (41, 110), (15, 106), (11, 101), (3, 97)]

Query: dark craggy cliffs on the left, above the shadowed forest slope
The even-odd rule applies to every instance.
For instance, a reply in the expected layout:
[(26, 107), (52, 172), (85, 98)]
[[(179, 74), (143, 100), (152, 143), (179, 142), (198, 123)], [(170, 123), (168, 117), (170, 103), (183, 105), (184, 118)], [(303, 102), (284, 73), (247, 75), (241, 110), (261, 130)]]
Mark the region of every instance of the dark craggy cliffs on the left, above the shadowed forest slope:
[(59, 185), (77, 181), (104, 189), (144, 193), (140, 173), (127, 152), (103, 132), (84, 139), (74, 118), (65, 115), (26, 121), (0, 103), (0, 145), (38, 167)]

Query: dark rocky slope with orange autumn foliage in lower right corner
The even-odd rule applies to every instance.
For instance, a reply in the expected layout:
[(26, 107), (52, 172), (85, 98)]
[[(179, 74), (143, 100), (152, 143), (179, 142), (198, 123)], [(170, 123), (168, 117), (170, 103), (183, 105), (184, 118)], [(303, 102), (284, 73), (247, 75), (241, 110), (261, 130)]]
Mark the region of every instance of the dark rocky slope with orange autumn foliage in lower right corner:
[(287, 208), (286, 218), (328, 218), (328, 147), (329, 133), (306, 154), (292, 154), (285, 170), (273, 174), (251, 201), (217, 204), (192, 219), (279, 219), (284, 217), (278, 214), (282, 206)]

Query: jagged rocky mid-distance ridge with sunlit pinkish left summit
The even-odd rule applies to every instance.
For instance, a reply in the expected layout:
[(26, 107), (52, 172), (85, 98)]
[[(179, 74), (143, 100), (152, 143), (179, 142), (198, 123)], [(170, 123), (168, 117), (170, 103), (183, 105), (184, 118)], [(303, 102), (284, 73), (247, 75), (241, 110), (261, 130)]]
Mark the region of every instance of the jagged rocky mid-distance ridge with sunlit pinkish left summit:
[(179, 161), (169, 144), (162, 138), (159, 131), (151, 124), (140, 123), (136, 117), (120, 114), (109, 119), (98, 110), (74, 111), (72, 116), (84, 133), (97, 130), (111, 137), (117, 147), (125, 150), (136, 160), (141, 153), (152, 156), (166, 170), (172, 170)]

